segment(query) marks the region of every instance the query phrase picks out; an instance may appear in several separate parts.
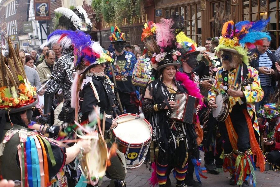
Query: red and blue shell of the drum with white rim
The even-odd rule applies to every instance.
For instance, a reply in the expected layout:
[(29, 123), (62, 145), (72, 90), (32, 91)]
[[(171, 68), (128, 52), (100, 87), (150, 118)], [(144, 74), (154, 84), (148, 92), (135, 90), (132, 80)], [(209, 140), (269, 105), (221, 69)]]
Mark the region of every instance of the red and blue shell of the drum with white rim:
[[(122, 114), (119, 116), (119, 118), (121, 117), (125, 117), (125, 116), (137, 116), (135, 114)], [(135, 167), (135, 166), (139, 166), (139, 163), (142, 163), (141, 161), (146, 157), (147, 154), (147, 150), (149, 148), (150, 142), (152, 140), (152, 125), (150, 125), (150, 123), (146, 120), (143, 119), (143, 121), (145, 122), (145, 124), (147, 125), (147, 127), (150, 130), (150, 136), (149, 138), (141, 143), (129, 143), (126, 142), (124, 140), (122, 140), (120, 137), (116, 138), (116, 134), (114, 132), (114, 130), (112, 130), (112, 143), (117, 143), (118, 144), (118, 149), (120, 152), (124, 153), (124, 156), (126, 159), (126, 165), (128, 167)], [(129, 146), (129, 148), (128, 148)], [(138, 160), (138, 162), (137, 162)]]

